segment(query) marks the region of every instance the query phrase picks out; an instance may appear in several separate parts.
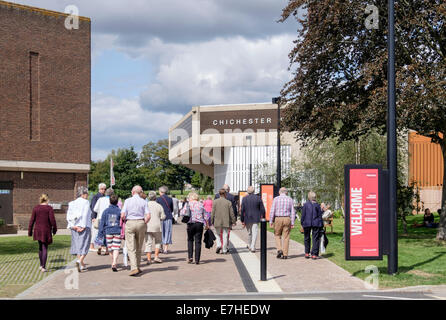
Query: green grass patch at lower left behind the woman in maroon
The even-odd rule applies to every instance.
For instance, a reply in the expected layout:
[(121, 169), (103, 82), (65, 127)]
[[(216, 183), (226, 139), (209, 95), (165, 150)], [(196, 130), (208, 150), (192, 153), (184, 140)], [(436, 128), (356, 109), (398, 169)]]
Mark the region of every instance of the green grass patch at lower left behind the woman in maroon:
[(26, 236), (0, 238), (0, 298), (13, 298), (68, 264), (71, 236), (56, 235), (48, 249), (47, 270), (39, 271), (39, 245)]

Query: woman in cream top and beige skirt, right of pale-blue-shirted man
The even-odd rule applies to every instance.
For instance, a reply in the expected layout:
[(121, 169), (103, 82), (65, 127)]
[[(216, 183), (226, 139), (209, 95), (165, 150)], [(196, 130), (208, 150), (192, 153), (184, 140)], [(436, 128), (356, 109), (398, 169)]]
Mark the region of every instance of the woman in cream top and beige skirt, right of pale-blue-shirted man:
[(159, 253), (162, 242), (161, 221), (166, 219), (163, 207), (156, 202), (156, 192), (149, 192), (149, 212), (150, 220), (147, 223), (146, 230), (146, 248), (144, 252), (147, 254), (147, 264), (152, 263), (152, 247), (155, 246), (155, 259), (153, 261), (161, 263)]

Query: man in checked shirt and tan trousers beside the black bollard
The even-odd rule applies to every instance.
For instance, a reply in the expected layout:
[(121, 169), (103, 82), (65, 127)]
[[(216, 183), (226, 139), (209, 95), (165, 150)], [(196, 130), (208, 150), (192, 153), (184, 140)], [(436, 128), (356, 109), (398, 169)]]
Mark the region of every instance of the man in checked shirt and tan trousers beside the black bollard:
[(286, 188), (280, 188), (279, 196), (274, 198), (269, 214), (270, 225), (274, 228), (278, 259), (288, 259), (290, 231), (294, 228), (294, 220), (296, 219), (294, 201), (287, 194), (288, 190)]

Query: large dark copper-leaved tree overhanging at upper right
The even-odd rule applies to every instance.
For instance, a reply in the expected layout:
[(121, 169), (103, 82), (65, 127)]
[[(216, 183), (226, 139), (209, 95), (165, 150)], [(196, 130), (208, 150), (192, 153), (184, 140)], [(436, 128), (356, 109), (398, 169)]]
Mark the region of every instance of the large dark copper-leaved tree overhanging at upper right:
[[(290, 0), (281, 21), (301, 29), (289, 54), (293, 79), (282, 90), (284, 129), (296, 139), (360, 138), (386, 131), (387, 1), (376, 0), (379, 28), (366, 28), (369, 1)], [(304, 12), (301, 17), (299, 13)], [(430, 137), (446, 167), (446, 3), (396, 0), (397, 124)], [(437, 239), (446, 240), (446, 170)]]

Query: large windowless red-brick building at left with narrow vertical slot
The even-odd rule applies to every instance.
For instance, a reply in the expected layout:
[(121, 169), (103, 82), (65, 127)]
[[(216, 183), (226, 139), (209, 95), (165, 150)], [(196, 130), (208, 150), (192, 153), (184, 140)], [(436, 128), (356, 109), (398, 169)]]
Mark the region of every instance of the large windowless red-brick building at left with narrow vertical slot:
[(60, 228), (90, 170), (90, 19), (0, 1), (0, 219), (27, 228), (42, 193)]

